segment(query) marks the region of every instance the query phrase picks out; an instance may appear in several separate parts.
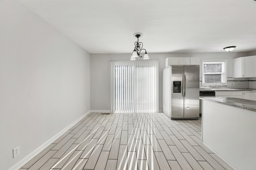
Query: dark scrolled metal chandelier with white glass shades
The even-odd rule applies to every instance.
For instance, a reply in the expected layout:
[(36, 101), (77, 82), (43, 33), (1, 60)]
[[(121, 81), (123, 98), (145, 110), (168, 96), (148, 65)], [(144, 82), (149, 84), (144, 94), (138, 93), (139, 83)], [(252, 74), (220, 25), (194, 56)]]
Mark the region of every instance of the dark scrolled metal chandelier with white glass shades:
[(143, 60), (149, 59), (146, 49), (142, 49), (143, 43), (139, 41), (139, 38), (142, 37), (142, 35), (143, 35), (142, 33), (134, 33), (133, 34), (133, 36), (136, 37), (138, 40), (135, 41), (135, 43), (134, 43), (135, 48), (134, 48), (134, 51), (132, 51), (132, 56), (131, 56), (130, 60), (136, 60), (137, 57), (142, 57), (142, 56), (140, 56), (140, 52), (142, 50), (145, 50)]

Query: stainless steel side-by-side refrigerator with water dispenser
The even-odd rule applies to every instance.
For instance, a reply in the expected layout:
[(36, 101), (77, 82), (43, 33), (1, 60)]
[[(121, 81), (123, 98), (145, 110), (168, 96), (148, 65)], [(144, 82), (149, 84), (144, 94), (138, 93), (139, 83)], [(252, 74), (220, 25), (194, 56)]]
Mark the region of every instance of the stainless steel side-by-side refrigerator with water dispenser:
[(163, 69), (163, 112), (172, 119), (199, 118), (199, 65)]

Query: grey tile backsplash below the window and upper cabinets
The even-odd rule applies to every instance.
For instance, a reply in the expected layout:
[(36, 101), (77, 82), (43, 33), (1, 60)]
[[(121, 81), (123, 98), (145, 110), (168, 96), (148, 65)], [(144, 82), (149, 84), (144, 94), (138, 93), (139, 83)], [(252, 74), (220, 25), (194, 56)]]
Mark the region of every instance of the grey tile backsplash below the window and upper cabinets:
[[(202, 78), (200, 78), (200, 88), (214, 88), (215, 86), (202, 86)], [(256, 89), (256, 78), (228, 78), (227, 86), (223, 88), (238, 89)]]

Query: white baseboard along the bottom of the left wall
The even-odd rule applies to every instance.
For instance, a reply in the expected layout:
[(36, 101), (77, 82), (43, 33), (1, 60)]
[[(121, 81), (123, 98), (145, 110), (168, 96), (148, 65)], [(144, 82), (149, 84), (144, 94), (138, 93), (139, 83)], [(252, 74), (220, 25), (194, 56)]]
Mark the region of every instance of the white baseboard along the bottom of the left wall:
[(12, 166), (11, 168), (9, 168), (8, 170), (18, 170), (20, 167), (22, 167), (24, 164), (26, 164), (29, 160), (31, 160), (32, 158), (34, 158), (34, 156), (36, 156), (38, 153), (40, 153), (42, 150), (44, 150), (48, 145), (50, 145), (52, 142), (54, 142), (56, 139), (58, 139), (58, 137), (60, 137), (62, 134), (64, 134), (66, 131), (68, 131), (68, 129), (70, 129), (72, 126), (74, 126), (78, 121), (80, 121), (82, 118), (84, 118), (84, 116), (88, 115), (90, 112), (92, 111), (88, 111), (86, 112), (84, 115), (82, 115), (81, 117), (79, 117), (78, 119), (76, 119), (73, 123), (71, 123), (70, 125), (68, 125), (65, 129), (63, 129), (62, 131), (60, 131), (59, 133), (57, 133), (54, 137), (52, 137), (51, 139), (49, 139), (48, 141), (46, 141), (46, 143), (44, 143), (43, 145), (41, 145), (38, 149), (34, 150), (33, 152), (31, 152), (28, 156), (26, 156), (25, 158), (23, 158), (22, 160), (20, 160), (20, 162), (18, 162), (17, 164), (15, 164), (14, 166)]

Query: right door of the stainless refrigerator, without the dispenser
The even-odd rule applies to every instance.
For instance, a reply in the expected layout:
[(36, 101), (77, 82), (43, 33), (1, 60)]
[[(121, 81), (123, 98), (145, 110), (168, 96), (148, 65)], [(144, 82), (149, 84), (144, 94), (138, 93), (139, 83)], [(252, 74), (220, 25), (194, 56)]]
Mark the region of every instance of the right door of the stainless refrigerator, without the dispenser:
[(185, 65), (184, 118), (199, 117), (199, 65)]

